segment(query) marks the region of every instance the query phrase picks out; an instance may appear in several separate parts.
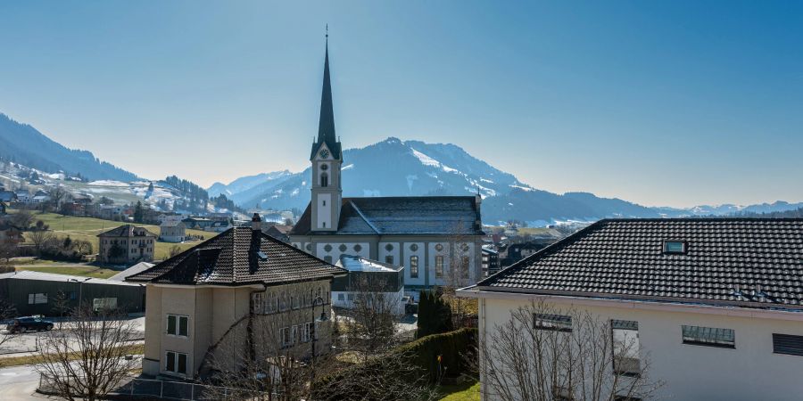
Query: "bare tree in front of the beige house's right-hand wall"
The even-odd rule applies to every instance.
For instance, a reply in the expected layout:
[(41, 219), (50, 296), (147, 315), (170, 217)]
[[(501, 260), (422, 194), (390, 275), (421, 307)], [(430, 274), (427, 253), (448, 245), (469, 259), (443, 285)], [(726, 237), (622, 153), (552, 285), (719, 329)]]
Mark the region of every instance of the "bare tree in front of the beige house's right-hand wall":
[(210, 348), (200, 373), (228, 393), (240, 389), (240, 398), (308, 398), (315, 372), (327, 372), (329, 302), (322, 292), (319, 283), (307, 282), (252, 294), (252, 314)]

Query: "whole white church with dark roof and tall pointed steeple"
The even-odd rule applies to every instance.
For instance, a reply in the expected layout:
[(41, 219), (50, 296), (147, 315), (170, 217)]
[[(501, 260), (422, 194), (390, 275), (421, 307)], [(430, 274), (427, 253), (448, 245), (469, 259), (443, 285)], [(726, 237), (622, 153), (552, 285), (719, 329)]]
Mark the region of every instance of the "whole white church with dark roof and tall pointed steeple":
[(344, 198), (343, 162), (327, 43), (318, 140), (310, 151), (312, 197), (290, 241), (329, 263), (351, 255), (403, 266), (405, 292), (416, 299), (421, 289), (482, 278), (480, 195)]

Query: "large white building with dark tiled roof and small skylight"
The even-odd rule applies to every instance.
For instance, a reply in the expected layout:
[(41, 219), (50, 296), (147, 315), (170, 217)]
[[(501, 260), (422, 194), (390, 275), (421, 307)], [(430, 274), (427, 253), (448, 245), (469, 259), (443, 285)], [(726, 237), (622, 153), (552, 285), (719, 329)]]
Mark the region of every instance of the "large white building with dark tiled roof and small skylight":
[(803, 219), (602, 220), (459, 294), (479, 299), (481, 347), (545, 300), (627, 323), (611, 335), (637, 339), (662, 398), (803, 397)]

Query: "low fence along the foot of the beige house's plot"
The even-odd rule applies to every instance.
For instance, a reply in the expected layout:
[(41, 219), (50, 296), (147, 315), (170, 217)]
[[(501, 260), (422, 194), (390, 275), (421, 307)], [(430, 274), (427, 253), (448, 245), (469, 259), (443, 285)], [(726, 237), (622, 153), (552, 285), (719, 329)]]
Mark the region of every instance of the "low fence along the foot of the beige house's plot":
[[(39, 375), (39, 387), (37, 392), (42, 394), (54, 395), (58, 391), (50, 380)], [(130, 397), (177, 399), (188, 401), (205, 401), (232, 399), (242, 400), (264, 396), (256, 391), (235, 389), (219, 386), (207, 386), (203, 384), (187, 383), (183, 381), (156, 381), (149, 379), (133, 379), (120, 386), (119, 389), (112, 391), (111, 394)]]

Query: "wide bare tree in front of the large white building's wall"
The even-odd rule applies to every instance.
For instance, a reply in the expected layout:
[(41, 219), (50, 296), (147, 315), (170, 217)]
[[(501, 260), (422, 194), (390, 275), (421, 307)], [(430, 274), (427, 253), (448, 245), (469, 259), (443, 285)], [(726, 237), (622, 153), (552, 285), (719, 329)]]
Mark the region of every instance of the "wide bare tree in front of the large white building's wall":
[[(604, 321), (587, 312), (532, 302), (482, 340), (477, 372), (487, 397), (513, 400), (652, 399), (649, 358), (635, 322)], [(625, 328), (617, 332), (617, 328)]]

